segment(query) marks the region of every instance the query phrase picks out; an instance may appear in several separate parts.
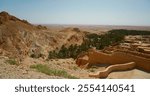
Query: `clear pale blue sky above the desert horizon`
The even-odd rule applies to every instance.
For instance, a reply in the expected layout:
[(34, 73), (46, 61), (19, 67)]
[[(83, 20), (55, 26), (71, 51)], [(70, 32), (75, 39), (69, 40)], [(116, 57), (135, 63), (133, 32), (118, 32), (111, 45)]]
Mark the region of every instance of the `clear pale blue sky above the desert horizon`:
[(150, 0), (0, 0), (0, 11), (33, 24), (150, 26)]

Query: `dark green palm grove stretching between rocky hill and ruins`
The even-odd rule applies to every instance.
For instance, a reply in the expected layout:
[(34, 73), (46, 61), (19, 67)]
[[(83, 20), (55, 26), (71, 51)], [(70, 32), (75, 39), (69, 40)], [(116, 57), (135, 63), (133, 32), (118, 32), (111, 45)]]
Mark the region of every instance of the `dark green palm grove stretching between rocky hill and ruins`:
[(81, 45), (70, 45), (69, 47), (63, 45), (60, 50), (50, 51), (48, 59), (76, 58), (81, 52), (85, 52), (91, 47), (101, 50), (110, 45), (117, 45), (123, 42), (124, 36), (127, 35), (150, 35), (150, 31), (120, 29), (110, 30), (103, 35), (87, 34)]

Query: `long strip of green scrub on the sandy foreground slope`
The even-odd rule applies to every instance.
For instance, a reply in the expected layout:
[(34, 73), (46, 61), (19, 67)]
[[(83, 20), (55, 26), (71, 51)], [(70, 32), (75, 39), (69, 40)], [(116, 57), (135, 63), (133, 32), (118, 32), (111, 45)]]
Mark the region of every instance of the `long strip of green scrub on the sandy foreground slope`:
[(60, 76), (69, 79), (78, 79), (75, 76), (69, 75), (65, 70), (49, 69), (48, 66), (43, 64), (31, 65), (30, 68), (34, 68), (39, 72), (45, 73), (47, 75)]

